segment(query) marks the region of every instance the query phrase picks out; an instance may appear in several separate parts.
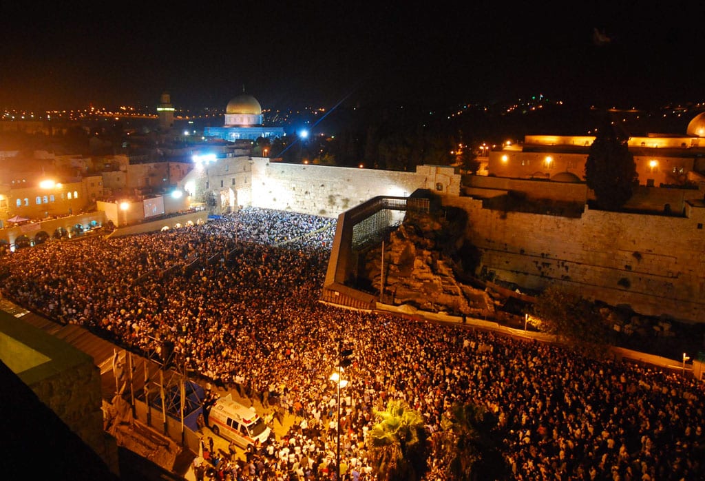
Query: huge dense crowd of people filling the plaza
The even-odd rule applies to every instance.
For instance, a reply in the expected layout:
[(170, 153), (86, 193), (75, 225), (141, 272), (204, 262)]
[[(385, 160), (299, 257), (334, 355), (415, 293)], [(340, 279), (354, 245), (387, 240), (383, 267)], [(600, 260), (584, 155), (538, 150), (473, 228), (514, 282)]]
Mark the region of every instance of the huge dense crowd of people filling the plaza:
[[(135, 350), (171, 341), (202, 377), (265, 405), (276, 396), (298, 424), (223, 479), (333, 479), (338, 340), (354, 361), (340, 419), (344, 479), (375, 478), (364, 441), (390, 399), (418, 410), (429, 433), (453, 403), (493, 413), (509, 479), (705, 479), (702, 382), (320, 303), (335, 224), (246, 207), (200, 226), (47, 243), (2, 257), (2, 293)], [(443, 479), (438, 464), (427, 479)]]

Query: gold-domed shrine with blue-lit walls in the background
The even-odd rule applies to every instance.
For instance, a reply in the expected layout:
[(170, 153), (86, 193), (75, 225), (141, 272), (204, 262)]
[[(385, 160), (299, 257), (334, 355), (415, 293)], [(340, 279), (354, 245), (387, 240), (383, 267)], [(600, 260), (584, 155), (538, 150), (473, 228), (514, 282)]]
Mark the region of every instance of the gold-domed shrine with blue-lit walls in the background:
[(274, 139), (284, 136), (282, 127), (264, 126), (262, 106), (252, 95), (243, 94), (231, 99), (226, 106), (225, 124), (222, 127), (206, 127), (203, 130), (206, 138), (222, 140), (257, 140), (258, 138)]

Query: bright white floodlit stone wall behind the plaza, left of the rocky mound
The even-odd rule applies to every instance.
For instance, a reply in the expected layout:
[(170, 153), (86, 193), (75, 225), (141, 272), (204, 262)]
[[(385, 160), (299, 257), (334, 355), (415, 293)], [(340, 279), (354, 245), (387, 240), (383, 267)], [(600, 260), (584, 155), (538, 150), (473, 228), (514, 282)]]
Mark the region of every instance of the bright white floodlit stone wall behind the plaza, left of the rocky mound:
[(252, 205), (323, 217), (338, 214), (378, 195), (411, 195), (419, 188), (460, 195), (453, 167), (418, 166), (415, 172), (285, 164), (252, 159)]

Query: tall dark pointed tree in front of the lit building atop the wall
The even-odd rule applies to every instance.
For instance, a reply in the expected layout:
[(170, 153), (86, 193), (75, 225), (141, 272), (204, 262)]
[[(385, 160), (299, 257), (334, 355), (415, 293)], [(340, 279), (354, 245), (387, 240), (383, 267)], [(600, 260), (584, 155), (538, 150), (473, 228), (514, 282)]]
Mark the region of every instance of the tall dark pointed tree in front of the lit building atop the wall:
[(618, 133), (608, 118), (590, 146), (585, 180), (602, 209), (619, 210), (632, 197), (638, 180), (634, 155), (629, 152), (625, 135)]

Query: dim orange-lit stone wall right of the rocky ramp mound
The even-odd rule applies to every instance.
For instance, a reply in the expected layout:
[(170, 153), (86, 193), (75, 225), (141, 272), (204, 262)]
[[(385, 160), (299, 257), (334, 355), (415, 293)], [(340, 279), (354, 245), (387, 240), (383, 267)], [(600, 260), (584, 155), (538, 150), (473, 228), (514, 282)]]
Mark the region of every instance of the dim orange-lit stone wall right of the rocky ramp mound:
[[(705, 322), (705, 230), (693, 218), (589, 210), (570, 219), (493, 211), (469, 197), (467, 238), (482, 250), (478, 273), (527, 289), (558, 282), (644, 315)], [(702, 209), (699, 209), (702, 210)]]

